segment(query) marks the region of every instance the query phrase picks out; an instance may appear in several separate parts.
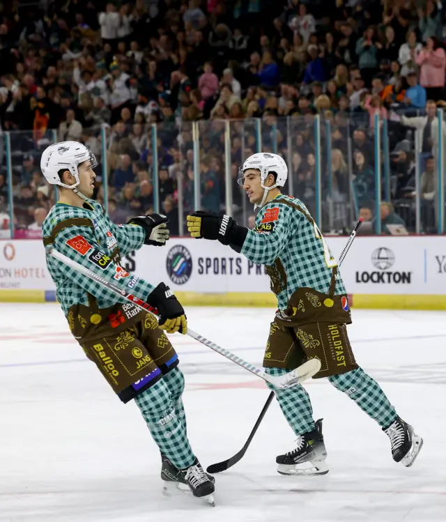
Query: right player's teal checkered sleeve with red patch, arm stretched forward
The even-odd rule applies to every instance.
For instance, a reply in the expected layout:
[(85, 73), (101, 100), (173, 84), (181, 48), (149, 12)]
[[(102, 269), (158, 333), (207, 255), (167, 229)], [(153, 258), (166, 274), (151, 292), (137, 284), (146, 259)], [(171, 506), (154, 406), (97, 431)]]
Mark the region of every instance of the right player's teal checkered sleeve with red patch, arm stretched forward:
[(271, 265), (298, 228), (293, 209), (284, 204), (261, 210), (260, 222), (249, 230), (241, 253), (256, 265)]

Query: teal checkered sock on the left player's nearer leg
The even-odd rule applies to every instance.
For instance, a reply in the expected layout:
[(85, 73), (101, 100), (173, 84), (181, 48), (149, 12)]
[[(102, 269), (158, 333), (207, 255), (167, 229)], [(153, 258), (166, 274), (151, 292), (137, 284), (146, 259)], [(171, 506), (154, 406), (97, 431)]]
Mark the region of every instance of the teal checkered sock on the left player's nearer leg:
[(177, 401), (174, 401), (165, 378), (135, 397), (134, 401), (160, 451), (177, 468), (192, 466), (195, 455), (187, 439), (185, 424), (176, 415)]

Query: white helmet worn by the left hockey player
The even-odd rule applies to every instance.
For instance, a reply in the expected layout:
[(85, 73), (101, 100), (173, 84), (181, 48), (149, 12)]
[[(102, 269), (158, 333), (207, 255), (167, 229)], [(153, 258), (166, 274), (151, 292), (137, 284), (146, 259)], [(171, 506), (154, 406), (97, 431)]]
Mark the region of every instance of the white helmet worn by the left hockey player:
[[(74, 189), (79, 185), (79, 172), (77, 167), (84, 161), (90, 161), (91, 167), (97, 167), (95, 155), (78, 141), (61, 141), (45, 148), (40, 158), (40, 169), (43, 176), (51, 185)], [(74, 185), (62, 183), (59, 171), (69, 170), (75, 176)]]

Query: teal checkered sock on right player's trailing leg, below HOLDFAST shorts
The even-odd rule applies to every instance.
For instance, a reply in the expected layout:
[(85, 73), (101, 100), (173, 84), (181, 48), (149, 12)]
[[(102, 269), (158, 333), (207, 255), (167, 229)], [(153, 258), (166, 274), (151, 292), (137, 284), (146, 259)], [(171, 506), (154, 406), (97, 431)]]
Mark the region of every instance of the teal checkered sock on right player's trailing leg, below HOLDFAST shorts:
[(334, 375), (328, 381), (341, 392), (348, 395), (369, 417), (376, 420), (380, 427), (387, 428), (397, 418), (395, 408), (381, 389), (380, 385), (362, 368)]

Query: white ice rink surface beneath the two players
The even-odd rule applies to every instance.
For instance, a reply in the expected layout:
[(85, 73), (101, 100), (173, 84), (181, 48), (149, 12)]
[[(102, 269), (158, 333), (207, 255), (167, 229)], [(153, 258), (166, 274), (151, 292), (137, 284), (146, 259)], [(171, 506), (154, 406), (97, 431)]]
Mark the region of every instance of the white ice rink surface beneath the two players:
[[(188, 308), (191, 328), (261, 364), (270, 309)], [(0, 305), (1, 522), (446, 521), (446, 313), (353, 310), (357, 361), (424, 438), (394, 463), (378, 424), (310, 381), (330, 473), (284, 477), (295, 436), (274, 401), (242, 461), (216, 475), (216, 507), (162, 496), (160, 456), (137, 407), (86, 360), (58, 305)], [(185, 372), (192, 447), (203, 466), (245, 443), (268, 390), (190, 337), (171, 337)]]

